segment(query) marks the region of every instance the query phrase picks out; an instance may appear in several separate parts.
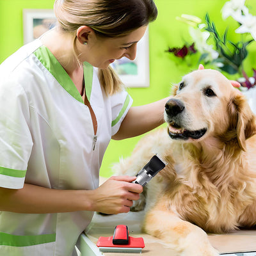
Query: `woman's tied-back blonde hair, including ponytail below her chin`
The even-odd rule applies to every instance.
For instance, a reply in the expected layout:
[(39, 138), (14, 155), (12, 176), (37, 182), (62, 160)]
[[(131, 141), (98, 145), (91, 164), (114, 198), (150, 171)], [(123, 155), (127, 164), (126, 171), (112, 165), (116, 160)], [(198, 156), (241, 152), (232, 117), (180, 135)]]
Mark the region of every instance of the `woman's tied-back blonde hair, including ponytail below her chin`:
[[(153, 0), (56, 0), (54, 12), (60, 28), (74, 33), (74, 46), (80, 26), (89, 26), (98, 36), (114, 38), (147, 26), (157, 17)], [(122, 88), (111, 67), (99, 69), (99, 81), (108, 95)]]

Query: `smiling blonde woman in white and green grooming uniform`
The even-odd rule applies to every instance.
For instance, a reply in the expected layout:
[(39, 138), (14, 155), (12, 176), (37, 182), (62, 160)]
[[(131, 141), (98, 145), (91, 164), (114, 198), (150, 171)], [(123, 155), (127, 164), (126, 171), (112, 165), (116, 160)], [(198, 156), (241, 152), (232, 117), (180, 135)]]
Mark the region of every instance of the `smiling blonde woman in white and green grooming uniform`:
[(126, 176), (98, 188), (111, 138), (163, 124), (166, 99), (131, 107), (109, 67), (134, 60), (154, 2), (56, 0), (54, 12), (58, 26), (0, 66), (0, 255), (75, 255), (93, 211), (128, 212), (143, 190)]

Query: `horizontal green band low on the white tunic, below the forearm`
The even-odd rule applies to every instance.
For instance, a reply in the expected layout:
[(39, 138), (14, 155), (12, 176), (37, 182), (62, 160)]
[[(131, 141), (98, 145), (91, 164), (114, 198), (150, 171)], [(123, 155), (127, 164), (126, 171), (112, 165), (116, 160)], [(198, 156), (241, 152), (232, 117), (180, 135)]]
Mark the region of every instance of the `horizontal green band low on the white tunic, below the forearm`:
[(0, 232), (0, 245), (6, 246), (31, 246), (46, 244), (56, 241), (56, 234), (45, 234), (38, 236), (15, 236)]

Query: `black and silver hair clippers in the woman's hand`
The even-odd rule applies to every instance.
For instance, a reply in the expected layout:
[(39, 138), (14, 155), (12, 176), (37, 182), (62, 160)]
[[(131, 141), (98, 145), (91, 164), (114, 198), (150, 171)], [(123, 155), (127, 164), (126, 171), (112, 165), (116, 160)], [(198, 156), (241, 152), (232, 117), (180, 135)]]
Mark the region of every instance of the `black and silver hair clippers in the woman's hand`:
[(141, 186), (145, 186), (148, 182), (159, 173), (166, 164), (154, 155), (150, 161), (138, 172), (136, 175), (137, 179), (132, 181), (133, 183), (138, 183)]

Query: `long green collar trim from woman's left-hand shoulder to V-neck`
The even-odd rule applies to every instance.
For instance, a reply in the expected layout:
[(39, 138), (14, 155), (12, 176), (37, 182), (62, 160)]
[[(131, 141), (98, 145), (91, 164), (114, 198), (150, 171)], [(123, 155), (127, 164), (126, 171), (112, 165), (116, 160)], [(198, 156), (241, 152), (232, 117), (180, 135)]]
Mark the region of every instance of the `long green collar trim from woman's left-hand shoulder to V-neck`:
[(81, 103), (83, 99), (78, 92), (75, 84), (73, 83), (70, 76), (68, 76), (66, 70), (60, 65), (60, 62), (55, 58), (52, 52), (45, 46), (42, 45), (35, 52), (35, 56), (40, 60), (42, 65), (55, 77), (58, 83), (76, 100)]

